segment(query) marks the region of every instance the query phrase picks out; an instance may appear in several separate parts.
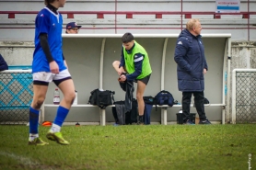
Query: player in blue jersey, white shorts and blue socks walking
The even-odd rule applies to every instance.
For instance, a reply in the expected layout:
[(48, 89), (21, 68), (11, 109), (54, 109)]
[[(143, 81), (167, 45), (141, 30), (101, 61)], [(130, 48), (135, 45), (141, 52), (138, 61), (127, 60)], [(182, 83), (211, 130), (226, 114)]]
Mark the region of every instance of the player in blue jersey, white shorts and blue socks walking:
[(35, 51), (32, 62), (34, 96), (29, 108), (29, 144), (48, 144), (39, 138), (38, 121), (48, 85), (53, 81), (63, 92), (64, 99), (57, 108), (52, 128), (46, 137), (66, 145), (69, 142), (64, 140), (60, 131), (76, 94), (62, 51), (63, 17), (57, 11), (59, 7), (64, 7), (65, 0), (44, 0), (44, 4), (46, 7), (41, 9), (35, 20)]

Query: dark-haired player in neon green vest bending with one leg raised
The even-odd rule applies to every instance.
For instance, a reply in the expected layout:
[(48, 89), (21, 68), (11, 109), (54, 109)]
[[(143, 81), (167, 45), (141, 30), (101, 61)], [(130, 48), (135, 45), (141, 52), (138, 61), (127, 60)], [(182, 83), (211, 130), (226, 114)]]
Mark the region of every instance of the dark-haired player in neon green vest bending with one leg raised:
[(132, 33), (127, 32), (122, 36), (121, 61), (115, 61), (112, 65), (120, 76), (119, 81), (134, 81), (137, 83), (138, 124), (144, 124), (145, 103), (143, 96), (152, 70), (147, 52), (134, 40)]

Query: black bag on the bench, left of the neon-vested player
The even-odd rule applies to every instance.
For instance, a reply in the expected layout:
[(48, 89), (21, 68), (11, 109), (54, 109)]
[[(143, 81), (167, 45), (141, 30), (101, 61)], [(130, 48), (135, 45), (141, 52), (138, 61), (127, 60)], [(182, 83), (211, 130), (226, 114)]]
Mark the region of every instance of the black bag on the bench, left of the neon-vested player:
[(101, 109), (105, 109), (109, 105), (112, 105), (114, 100), (114, 91), (104, 90), (100, 91), (99, 88), (90, 92), (88, 104), (97, 105)]

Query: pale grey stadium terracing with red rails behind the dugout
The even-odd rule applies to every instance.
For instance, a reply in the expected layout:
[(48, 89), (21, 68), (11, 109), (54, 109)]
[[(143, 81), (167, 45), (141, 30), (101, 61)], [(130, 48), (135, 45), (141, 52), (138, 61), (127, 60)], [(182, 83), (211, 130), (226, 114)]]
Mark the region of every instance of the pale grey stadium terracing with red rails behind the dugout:
[[(115, 4), (117, 2), (117, 4)], [(149, 1), (149, 0), (69, 0), (60, 12), (64, 11), (165, 11), (165, 12), (215, 12), (215, 1), (196, 0), (196, 1)], [(240, 11), (255, 12), (256, 0), (240, 1)], [(44, 7), (41, 0), (0, 0), (0, 11), (39, 11)], [(75, 14), (74, 18), (67, 18), (64, 14), (65, 24), (76, 21), (83, 27), (80, 33), (102, 34), (120, 33), (126, 31), (133, 33), (180, 33), (180, 15), (163, 15), (156, 18), (155, 15), (133, 15), (133, 18), (126, 18), (125, 15), (107, 14), (104, 18), (97, 18), (97, 14)], [(1, 40), (33, 40), (34, 20), (36, 14), (19, 14), (15, 18), (8, 18), (7, 14), (0, 14), (0, 39)], [(249, 19), (242, 18), (242, 15), (225, 15), (215, 19), (214, 15), (192, 15), (200, 18), (203, 26), (203, 34), (207, 33), (232, 33), (232, 40), (256, 40), (256, 14), (250, 15)], [(188, 19), (182, 16), (182, 28)], [(248, 29), (250, 28), (250, 29)], [(11, 32), (11, 34), (10, 34)], [(64, 32), (64, 30), (63, 30)]]

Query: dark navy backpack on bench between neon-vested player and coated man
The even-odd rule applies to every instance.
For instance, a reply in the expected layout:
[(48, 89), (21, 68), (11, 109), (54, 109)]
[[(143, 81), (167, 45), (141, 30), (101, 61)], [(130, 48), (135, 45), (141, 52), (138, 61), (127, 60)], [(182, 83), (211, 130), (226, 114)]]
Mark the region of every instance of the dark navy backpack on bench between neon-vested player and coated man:
[(172, 107), (174, 104), (173, 96), (169, 93), (169, 91), (166, 90), (162, 90), (157, 93), (155, 100), (157, 105), (168, 105), (169, 107)]

